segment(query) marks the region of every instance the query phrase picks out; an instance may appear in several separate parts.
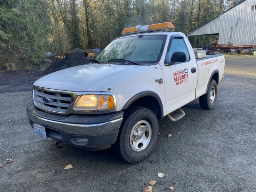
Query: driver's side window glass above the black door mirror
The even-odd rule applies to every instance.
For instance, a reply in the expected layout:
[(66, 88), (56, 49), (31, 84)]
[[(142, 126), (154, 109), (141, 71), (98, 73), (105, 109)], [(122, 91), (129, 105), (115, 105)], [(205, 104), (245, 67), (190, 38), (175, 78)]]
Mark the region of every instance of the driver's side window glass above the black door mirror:
[(184, 52), (187, 55), (187, 61), (189, 60), (188, 48), (183, 38), (174, 37), (172, 39), (171, 48), (170, 48), (170, 51), (168, 52), (170, 59), (172, 58), (172, 53), (176, 51)]

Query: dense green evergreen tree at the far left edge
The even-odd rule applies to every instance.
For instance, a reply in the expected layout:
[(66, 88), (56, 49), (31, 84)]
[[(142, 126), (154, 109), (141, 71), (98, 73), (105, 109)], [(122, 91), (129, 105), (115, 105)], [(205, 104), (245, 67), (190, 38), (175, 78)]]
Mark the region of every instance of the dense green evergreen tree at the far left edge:
[(41, 61), (49, 34), (48, 5), (45, 0), (0, 0), (0, 70)]

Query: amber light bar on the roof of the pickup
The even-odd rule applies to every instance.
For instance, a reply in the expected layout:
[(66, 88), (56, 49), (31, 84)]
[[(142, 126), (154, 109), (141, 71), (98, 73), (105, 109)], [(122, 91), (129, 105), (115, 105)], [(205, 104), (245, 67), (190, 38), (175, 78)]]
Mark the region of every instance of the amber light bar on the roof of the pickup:
[(145, 33), (150, 31), (161, 31), (166, 29), (174, 29), (174, 25), (172, 22), (164, 22), (164, 23), (157, 23), (152, 25), (144, 25), (140, 26), (143, 30), (137, 30), (137, 27), (130, 27), (130, 28), (124, 28), (122, 31), (122, 35), (129, 35), (129, 34), (135, 34), (135, 33)]

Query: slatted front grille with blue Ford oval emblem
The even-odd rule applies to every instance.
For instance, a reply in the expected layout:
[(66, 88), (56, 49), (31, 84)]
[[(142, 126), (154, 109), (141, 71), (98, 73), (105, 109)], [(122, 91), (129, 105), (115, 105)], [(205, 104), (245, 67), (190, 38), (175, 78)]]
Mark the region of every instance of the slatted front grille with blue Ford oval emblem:
[(65, 113), (68, 110), (71, 101), (71, 95), (34, 89), (33, 90), (34, 102), (36, 106), (58, 113)]

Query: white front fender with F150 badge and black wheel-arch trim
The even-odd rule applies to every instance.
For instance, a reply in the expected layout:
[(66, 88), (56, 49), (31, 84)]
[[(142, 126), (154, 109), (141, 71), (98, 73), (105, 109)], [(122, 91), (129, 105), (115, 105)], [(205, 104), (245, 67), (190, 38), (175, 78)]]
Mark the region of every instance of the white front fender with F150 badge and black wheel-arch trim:
[(150, 96), (161, 106), (161, 116), (166, 112), (165, 85), (160, 64), (133, 71), (107, 84), (101, 91), (110, 91), (116, 96), (116, 111), (128, 108), (141, 97)]

